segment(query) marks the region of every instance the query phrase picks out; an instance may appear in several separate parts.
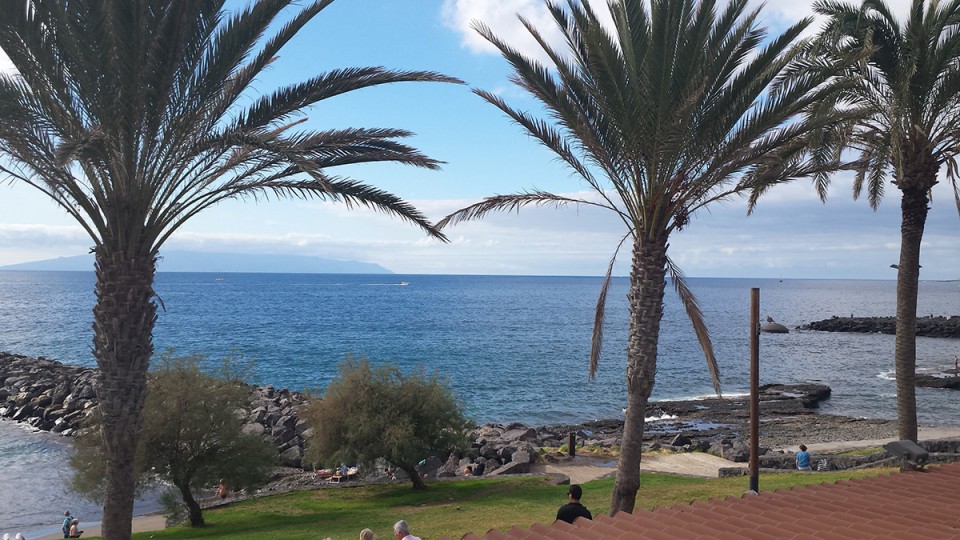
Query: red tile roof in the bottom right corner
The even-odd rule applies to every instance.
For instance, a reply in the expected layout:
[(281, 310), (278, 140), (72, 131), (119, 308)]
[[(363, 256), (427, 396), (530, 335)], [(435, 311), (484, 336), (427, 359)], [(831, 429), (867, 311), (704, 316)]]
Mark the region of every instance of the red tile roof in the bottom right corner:
[(462, 540), (960, 540), (960, 463)]

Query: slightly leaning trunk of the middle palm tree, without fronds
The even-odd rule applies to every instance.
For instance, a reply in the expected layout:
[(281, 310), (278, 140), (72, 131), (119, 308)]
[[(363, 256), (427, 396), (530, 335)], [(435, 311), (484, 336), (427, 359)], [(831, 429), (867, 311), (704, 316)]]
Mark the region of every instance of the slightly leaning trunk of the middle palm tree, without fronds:
[(657, 372), (657, 340), (666, 286), (666, 242), (636, 241), (630, 269), (630, 330), (627, 341), (627, 412), (617, 462), (610, 515), (633, 512), (640, 489), (644, 418)]

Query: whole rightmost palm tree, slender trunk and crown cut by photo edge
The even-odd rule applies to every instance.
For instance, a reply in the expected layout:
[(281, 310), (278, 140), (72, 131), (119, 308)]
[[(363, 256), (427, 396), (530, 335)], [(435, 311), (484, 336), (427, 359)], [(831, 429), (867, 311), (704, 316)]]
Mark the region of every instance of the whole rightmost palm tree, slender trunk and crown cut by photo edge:
[[(841, 146), (858, 155), (853, 196), (866, 189), (876, 209), (892, 175), (901, 192), (900, 261), (897, 268), (895, 364), (900, 439), (917, 440), (917, 290), (920, 244), (930, 191), (940, 167), (956, 186), (960, 148), (960, 0), (914, 0), (905, 24), (881, 0), (859, 5), (818, 2), (828, 18), (819, 40), (828, 58), (860, 55), (850, 64), (857, 84), (842, 99), (858, 109), (840, 124)], [(827, 182), (818, 185), (821, 198)], [(957, 199), (960, 208), (960, 197)]]

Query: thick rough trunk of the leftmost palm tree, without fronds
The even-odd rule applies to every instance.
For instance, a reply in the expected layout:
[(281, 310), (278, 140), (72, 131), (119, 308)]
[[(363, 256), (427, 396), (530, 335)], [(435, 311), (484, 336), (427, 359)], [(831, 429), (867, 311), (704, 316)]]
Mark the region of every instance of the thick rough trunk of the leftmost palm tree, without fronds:
[(136, 483), (134, 459), (153, 353), (156, 261), (152, 255), (99, 246), (96, 271), (93, 351), (100, 368), (97, 397), (107, 460), (102, 531), (106, 540), (128, 540)]

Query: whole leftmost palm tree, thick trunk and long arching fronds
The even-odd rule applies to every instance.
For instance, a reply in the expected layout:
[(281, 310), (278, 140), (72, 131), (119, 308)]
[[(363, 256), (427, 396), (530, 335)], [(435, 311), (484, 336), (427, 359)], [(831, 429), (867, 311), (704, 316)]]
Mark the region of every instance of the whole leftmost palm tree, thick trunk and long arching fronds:
[[(156, 322), (163, 243), (228, 199), (317, 198), (364, 206), (443, 238), (412, 205), (328, 169), (437, 161), (389, 128), (298, 128), (304, 110), (423, 71), (338, 69), (258, 95), (254, 81), (332, 0), (27, 0), (5, 5), (0, 47), (0, 171), (48, 195), (93, 240), (93, 353), (107, 461), (103, 533), (130, 537), (133, 458)], [(273, 33), (268, 33), (270, 30)], [(262, 84), (262, 81), (260, 82)]]

